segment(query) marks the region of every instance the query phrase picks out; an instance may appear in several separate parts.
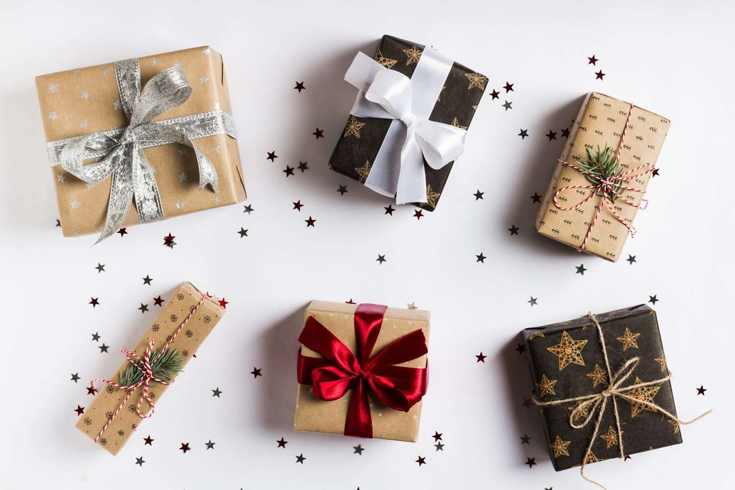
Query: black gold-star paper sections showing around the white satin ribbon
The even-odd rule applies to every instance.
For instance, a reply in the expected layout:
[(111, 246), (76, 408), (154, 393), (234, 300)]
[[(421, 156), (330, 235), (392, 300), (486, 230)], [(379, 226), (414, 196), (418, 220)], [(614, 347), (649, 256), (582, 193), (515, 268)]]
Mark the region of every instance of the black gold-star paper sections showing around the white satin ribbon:
[[(424, 48), (425, 46), (417, 43), (384, 35), (373, 59), (385, 68), (411, 78)], [(454, 62), (429, 120), (467, 129), (480, 103), (486, 82), (486, 76)], [(350, 115), (329, 159), (329, 168), (364, 183), (391, 121)], [(429, 202), (414, 203), (415, 206), (427, 211), (436, 209), (453, 164), (454, 162), (450, 162), (439, 170), (434, 170), (424, 161), (426, 198)]]

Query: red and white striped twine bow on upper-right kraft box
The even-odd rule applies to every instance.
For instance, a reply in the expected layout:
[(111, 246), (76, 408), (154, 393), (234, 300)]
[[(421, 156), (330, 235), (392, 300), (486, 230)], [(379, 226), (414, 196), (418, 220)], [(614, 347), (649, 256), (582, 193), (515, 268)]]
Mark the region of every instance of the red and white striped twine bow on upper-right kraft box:
[[(618, 162), (620, 162), (620, 150), (623, 148), (623, 143), (625, 143), (625, 132), (628, 131), (628, 123), (631, 120), (631, 114), (633, 114), (633, 104), (631, 104), (630, 109), (628, 109), (628, 118), (625, 119), (625, 127), (623, 128), (623, 134), (620, 136), (620, 145), (617, 147), (617, 154), (616, 159)], [(564, 160), (559, 159), (558, 160), (562, 165), (565, 165), (567, 167), (572, 167), (575, 170), (578, 170), (579, 172), (584, 172), (584, 169), (577, 167), (576, 165), (573, 165), (569, 162), (564, 162)], [(645, 168), (646, 170), (643, 172), (635, 173), (638, 170), (641, 170)], [(616, 175), (610, 176), (608, 179), (599, 179), (598, 184), (595, 185), (570, 185), (567, 187), (562, 187), (561, 189), (557, 190), (553, 195), (553, 203), (554, 206), (556, 206), (559, 209), (562, 209), (562, 211), (571, 211), (572, 209), (579, 209), (581, 206), (584, 205), (584, 203), (587, 203), (590, 199), (594, 198), (595, 195), (602, 195), (603, 201), (610, 212), (612, 212), (612, 215), (617, 218), (620, 223), (623, 223), (625, 225), (625, 228), (628, 228), (628, 231), (631, 233), (631, 237), (634, 237), (636, 234), (636, 228), (634, 228), (631, 225), (628, 225), (628, 223), (625, 222), (625, 219), (621, 217), (620, 215), (615, 212), (615, 209), (612, 207), (612, 199), (610, 198), (610, 195), (615, 195), (617, 198), (620, 198), (621, 201), (630, 204), (631, 206), (635, 206), (638, 209), (645, 209), (646, 206), (648, 206), (648, 201), (645, 199), (641, 200), (640, 204), (636, 204), (633, 201), (629, 200), (628, 198), (623, 197), (623, 195), (620, 192), (617, 192), (615, 190), (615, 187), (620, 187), (620, 189), (628, 190), (632, 192), (641, 192), (644, 193), (645, 190), (637, 189), (635, 187), (628, 187), (626, 185), (623, 185), (623, 181), (627, 177), (628, 179), (633, 179), (634, 177), (643, 176), (648, 173), (652, 173), (653, 170), (655, 170), (655, 167), (651, 163), (647, 163), (645, 165), (639, 165), (638, 167), (635, 167), (631, 170), (628, 170), (623, 173), (618, 173)], [(563, 207), (559, 204), (559, 201), (557, 201), (557, 198), (559, 195), (564, 192), (565, 190), (570, 189), (592, 189), (592, 193), (587, 196), (587, 198), (584, 198), (583, 201), (580, 203), (575, 204), (571, 207)], [(595, 206), (597, 211), (595, 212), (595, 217), (592, 218), (592, 224), (589, 225), (589, 228), (587, 229), (587, 234), (584, 235), (584, 240), (582, 241), (582, 245), (579, 245), (578, 251), (583, 251), (585, 248), (587, 248), (587, 241), (589, 240), (589, 237), (592, 236), (592, 228), (595, 228), (595, 223), (597, 223), (598, 217), (600, 217), (600, 211), (602, 211), (603, 206), (602, 203), (600, 203), (600, 206)]]

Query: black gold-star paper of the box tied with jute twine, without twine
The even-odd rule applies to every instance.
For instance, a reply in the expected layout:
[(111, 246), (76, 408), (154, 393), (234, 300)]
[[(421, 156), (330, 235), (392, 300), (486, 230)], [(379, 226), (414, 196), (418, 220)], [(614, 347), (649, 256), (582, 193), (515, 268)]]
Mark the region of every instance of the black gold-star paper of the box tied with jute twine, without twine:
[[(598, 314), (596, 317), (603, 331), (613, 375), (627, 361), (639, 358), (639, 364), (624, 381), (623, 387), (669, 375), (656, 311), (647, 305), (639, 305)], [(610, 376), (600, 336), (589, 317), (526, 328), (521, 334), (526, 344), (537, 400), (567, 400), (598, 394), (607, 388)], [(670, 381), (632, 389), (626, 394), (637, 400), (655, 403), (676, 414)], [(539, 407), (547, 447), (556, 471), (579, 466), (587, 453), (598, 412), (583, 428), (573, 428), (570, 415), (578, 403)], [(623, 431), (625, 455), (681, 443), (678, 424), (658, 413), (656, 408), (614, 397), (614, 403), (610, 400), (603, 414), (587, 464), (620, 457), (614, 415), (616, 406), (620, 429)], [(578, 411), (575, 419), (577, 425), (587, 417), (586, 412)]]

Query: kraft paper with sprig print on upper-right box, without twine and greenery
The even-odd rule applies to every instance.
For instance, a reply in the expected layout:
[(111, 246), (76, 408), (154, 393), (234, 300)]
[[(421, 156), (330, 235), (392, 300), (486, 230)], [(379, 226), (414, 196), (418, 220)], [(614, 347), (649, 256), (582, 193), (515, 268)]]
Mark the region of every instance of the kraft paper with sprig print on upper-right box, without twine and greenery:
[[(587, 94), (559, 159), (575, 165), (585, 159), (586, 148), (595, 151), (598, 147), (602, 150), (607, 145), (617, 151), (629, 109), (628, 102), (617, 98), (597, 92)], [(625, 143), (620, 153), (620, 165), (623, 167), (623, 172), (647, 163), (656, 164), (669, 125), (670, 120), (667, 118), (637, 106), (633, 107), (628, 129), (625, 132)], [(645, 190), (650, 178), (650, 173), (637, 176), (630, 179), (625, 185)], [(553, 202), (556, 190), (567, 186), (589, 184), (590, 182), (578, 170), (557, 162), (551, 183), (541, 201), (541, 208), (536, 217), (536, 229), (542, 235), (578, 248), (595, 216), (595, 206), (602, 206), (600, 216), (592, 229), (584, 251), (611, 262), (617, 262), (623, 251), (625, 239), (628, 237), (628, 228), (612, 215), (607, 206), (603, 205), (601, 196), (592, 198), (578, 209), (569, 211), (557, 208)], [(564, 191), (559, 195), (559, 204), (564, 207), (572, 207), (583, 201), (589, 192), (592, 190)], [(623, 196), (636, 204), (640, 204), (641, 199), (645, 198), (643, 192), (623, 192)], [(620, 199), (614, 201), (613, 206), (617, 214), (632, 226), (638, 208)]]

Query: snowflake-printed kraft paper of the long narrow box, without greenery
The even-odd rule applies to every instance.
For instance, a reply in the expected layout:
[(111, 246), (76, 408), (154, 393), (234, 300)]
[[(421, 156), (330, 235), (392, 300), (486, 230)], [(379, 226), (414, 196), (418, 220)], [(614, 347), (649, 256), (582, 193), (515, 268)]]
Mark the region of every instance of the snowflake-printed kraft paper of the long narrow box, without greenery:
[[(200, 300), (201, 304), (196, 307)], [(195, 307), (196, 311), (184, 325), (182, 331), (174, 337), (171, 347), (169, 347), (170, 349), (176, 349), (176, 355), (183, 363), (182, 367), (186, 366), (191, 356), (196, 353), (209, 332), (215, 328), (215, 325), (225, 314), (225, 309), (220, 306), (215, 298), (207, 297), (206, 293), (199, 291), (193, 284), (188, 282), (176, 289), (176, 292), (163, 306), (163, 309), (137, 342), (132, 352), (142, 358), (148, 342), (151, 340), (155, 342), (154, 349), (164, 347), (168, 339), (176, 334), (179, 326), (182, 325), (190, 311)], [(112, 375), (112, 378), (109, 378), (110, 381), (119, 383), (120, 376), (129, 366), (131, 366), (129, 361), (123, 362), (120, 369)], [(151, 381), (148, 395), (154, 404), (158, 403), (166, 389), (168, 389), (168, 386)], [(133, 390), (126, 405), (118, 411), (114, 418), (112, 417), (125, 400), (126, 395), (127, 392), (115, 389), (114, 386), (108, 384), (100, 390), (90, 406), (85, 408), (84, 413), (79, 417), (79, 421), (76, 422), (76, 428), (94, 441), (107, 421), (112, 418), (110, 425), (104, 429), (104, 433), (96, 441), (112, 455), (116, 455), (122, 449), (143, 420), (135, 409), (138, 400), (143, 395), (142, 386)], [(146, 400), (141, 403), (140, 410), (143, 414), (148, 414), (148, 411), (150, 411), (150, 406), (148, 406)], [(168, 410), (176, 410), (176, 407), (165, 405), (157, 407), (157, 415), (154, 415), (154, 417), (165, 418), (165, 411)]]

